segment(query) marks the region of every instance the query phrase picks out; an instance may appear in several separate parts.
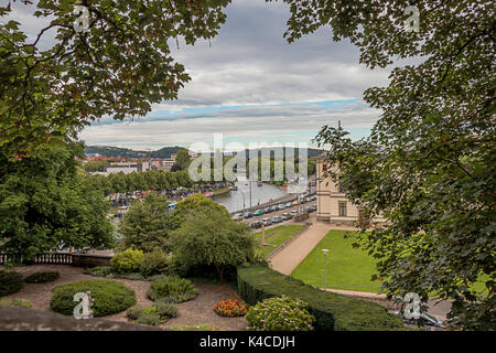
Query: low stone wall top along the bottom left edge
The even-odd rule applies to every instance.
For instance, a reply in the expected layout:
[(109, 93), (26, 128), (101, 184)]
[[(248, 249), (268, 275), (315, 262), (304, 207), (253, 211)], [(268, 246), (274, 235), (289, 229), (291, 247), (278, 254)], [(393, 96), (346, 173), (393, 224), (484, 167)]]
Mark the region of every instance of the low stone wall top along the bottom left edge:
[(160, 329), (99, 318), (77, 320), (47, 310), (0, 306), (0, 331), (160, 331)]

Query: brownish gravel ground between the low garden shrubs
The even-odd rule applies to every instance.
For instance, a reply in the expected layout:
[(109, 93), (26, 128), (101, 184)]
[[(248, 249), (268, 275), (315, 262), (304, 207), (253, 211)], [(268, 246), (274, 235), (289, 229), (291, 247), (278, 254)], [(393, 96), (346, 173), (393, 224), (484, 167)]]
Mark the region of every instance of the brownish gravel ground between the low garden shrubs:
[[(1, 269), (1, 266), (0, 266)], [(13, 295), (2, 297), (2, 299), (21, 298), (31, 301), (32, 307), (35, 309), (50, 310), (50, 299), (52, 291), (55, 287), (73, 282), (76, 280), (97, 279), (84, 274), (84, 269), (80, 267), (73, 267), (68, 265), (31, 265), (21, 266), (15, 268), (17, 272), (22, 274), (24, 277), (37, 272), (37, 271), (58, 271), (61, 277), (47, 284), (25, 284), (24, 288)], [(149, 281), (131, 280), (131, 279), (115, 279), (136, 291), (137, 306), (149, 307), (152, 301), (147, 297), (147, 290), (150, 286)], [(216, 330), (222, 331), (240, 331), (246, 330), (247, 322), (245, 318), (223, 318), (214, 312), (214, 306), (220, 300), (225, 299), (239, 299), (237, 292), (226, 285), (211, 285), (211, 284), (193, 284), (198, 289), (198, 296), (195, 300), (190, 300), (177, 304), (179, 315), (177, 318), (169, 320), (162, 327), (183, 327), (183, 325), (201, 325), (207, 324)], [(103, 319), (110, 321), (123, 321), (130, 322), (126, 317), (126, 311), (104, 317)]]

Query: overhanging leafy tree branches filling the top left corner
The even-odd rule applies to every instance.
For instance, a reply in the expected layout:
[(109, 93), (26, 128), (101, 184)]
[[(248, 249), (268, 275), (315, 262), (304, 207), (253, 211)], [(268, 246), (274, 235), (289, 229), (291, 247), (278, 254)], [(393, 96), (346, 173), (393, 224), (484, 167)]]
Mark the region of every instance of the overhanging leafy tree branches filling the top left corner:
[[(171, 56), (176, 43), (170, 40), (179, 45), (179, 38), (186, 44), (212, 39), (228, 2), (84, 0), (88, 26), (79, 31), (73, 1), (18, 1), (33, 19), (50, 23), (28, 36), (19, 22), (1, 21), (3, 153), (32, 156), (104, 116), (144, 116), (152, 104), (176, 98), (190, 76)], [(10, 1), (2, 2), (0, 18), (11, 11)], [(42, 46), (53, 40), (52, 47)]]

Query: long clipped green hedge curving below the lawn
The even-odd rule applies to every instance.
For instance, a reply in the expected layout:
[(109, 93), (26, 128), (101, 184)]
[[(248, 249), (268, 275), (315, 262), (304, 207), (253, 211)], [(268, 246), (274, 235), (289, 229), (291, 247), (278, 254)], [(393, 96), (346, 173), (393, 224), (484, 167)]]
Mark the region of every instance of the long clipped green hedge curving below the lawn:
[(401, 330), (401, 319), (373, 302), (326, 292), (270, 269), (267, 264), (238, 267), (238, 292), (251, 306), (285, 295), (309, 304), (316, 330)]

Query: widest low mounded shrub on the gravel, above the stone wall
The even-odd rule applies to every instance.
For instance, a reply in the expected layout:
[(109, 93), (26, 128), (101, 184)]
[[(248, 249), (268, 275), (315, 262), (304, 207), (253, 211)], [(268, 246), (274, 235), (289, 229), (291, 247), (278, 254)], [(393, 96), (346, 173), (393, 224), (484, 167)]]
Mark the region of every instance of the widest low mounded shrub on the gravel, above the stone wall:
[(136, 302), (134, 290), (121, 282), (110, 279), (90, 279), (55, 288), (50, 307), (53, 311), (72, 315), (76, 306), (74, 295), (86, 291), (90, 291), (91, 298), (95, 300), (91, 306), (95, 317), (105, 317), (120, 312)]

